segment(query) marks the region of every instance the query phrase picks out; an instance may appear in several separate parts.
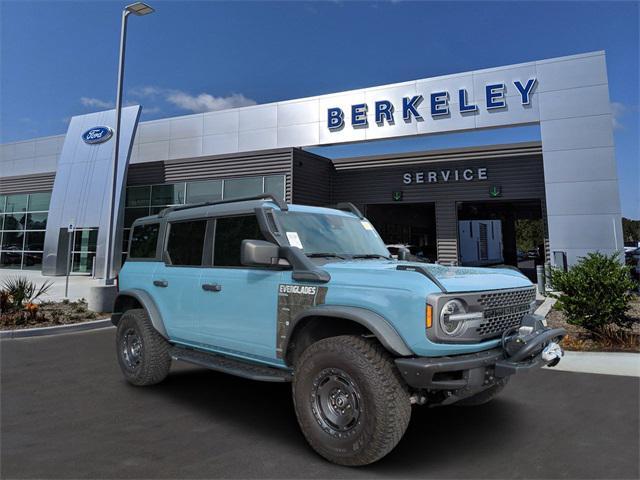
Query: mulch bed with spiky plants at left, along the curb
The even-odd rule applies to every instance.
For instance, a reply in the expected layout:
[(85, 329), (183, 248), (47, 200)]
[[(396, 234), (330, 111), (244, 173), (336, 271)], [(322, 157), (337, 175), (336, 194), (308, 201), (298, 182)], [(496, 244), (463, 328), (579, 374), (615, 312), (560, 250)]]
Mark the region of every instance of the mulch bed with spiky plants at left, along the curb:
[(25, 312), (0, 314), (0, 330), (19, 330), (24, 328), (54, 327), (71, 323), (88, 322), (105, 318), (108, 314), (92, 312), (84, 299), (71, 302), (42, 302), (38, 304), (35, 315)]

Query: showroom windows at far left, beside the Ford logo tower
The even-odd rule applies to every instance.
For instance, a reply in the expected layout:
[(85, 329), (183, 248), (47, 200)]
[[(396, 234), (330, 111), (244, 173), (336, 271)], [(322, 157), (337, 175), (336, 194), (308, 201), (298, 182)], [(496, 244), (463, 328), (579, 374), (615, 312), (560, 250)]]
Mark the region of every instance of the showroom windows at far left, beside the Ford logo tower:
[(0, 268), (40, 270), (51, 192), (0, 195)]

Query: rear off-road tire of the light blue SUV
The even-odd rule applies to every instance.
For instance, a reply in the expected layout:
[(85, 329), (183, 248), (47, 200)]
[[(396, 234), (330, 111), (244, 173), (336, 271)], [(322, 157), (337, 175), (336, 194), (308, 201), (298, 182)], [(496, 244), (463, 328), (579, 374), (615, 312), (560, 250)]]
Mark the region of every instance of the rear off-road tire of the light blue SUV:
[[(140, 339), (141, 353), (135, 366), (128, 363), (124, 354), (125, 336)], [(127, 310), (118, 322), (116, 355), (124, 377), (132, 385), (154, 385), (164, 380), (171, 368), (170, 347), (169, 342), (153, 328), (144, 309)]]

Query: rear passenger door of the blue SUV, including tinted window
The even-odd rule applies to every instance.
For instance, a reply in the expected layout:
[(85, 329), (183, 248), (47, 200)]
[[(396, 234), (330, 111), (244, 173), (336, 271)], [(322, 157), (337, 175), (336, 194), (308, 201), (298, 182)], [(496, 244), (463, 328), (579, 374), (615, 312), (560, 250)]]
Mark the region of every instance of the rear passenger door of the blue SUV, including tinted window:
[(206, 219), (169, 222), (164, 261), (153, 275), (153, 297), (171, 340), (197, 344), (198, 293), (205, 262)]

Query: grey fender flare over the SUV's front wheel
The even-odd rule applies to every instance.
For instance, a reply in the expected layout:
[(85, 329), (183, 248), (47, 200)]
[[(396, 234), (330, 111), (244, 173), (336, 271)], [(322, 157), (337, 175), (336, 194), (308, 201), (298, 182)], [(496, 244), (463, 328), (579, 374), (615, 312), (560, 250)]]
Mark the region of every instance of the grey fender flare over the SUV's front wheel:
[(399, 357), (407, 357), (415, 355), (402, 339), (398, 331), (381, 315), (360, 307), (336, 306), (336, 305), (318, 305), (311, 307), (300, 313), (289, 327), (291, 334), (283, 344), (282, 351), (286, 352), (291, 340), (292, 334), (296, 330), (296, 326), (300, 321), (309, 317), (332, 317), (343, 318), (359, 323), (367, 328), (375, 335), (378, 341), (392, 354)]

